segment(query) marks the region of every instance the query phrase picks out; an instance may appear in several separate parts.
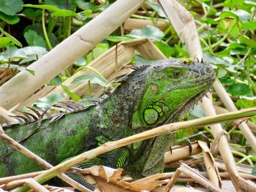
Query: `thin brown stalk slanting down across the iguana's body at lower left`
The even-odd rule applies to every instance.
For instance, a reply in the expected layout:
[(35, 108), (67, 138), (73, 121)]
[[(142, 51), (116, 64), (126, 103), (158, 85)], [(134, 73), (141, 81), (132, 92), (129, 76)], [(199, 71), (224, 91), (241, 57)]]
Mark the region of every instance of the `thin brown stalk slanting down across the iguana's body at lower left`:
[[(30, 150), (26, 149), (26, 147), (23, 147), (23, 145), (20, 145), (18, 142), (15, 142), (15, 140), (8, 137), (6, 134), (4, 134), (4, 131), (2, 129), (0, 130), (0, 139), (6, 142), (7, 144), (9, 144), (10, 146), (12, 146), (13, 148), (15, 148), (16, 150), (20, 151), (20, 153), (23, 153), (23, 155), (26, 155), (28, 158), (31, 158), (33, 161), (36, 161), (37, 164), (40, 164), (41, 166), (45, 167), (45, 169), (50, 169), (53, 167), (52, 165), (48, 164), (48, 162), (46, 162), (45, 160), (43, 160), (39, 156), (32, 153)], [(78, 188), (79, 190), (90, 191), (83, 185), (80, 185), (79, 183), (75, 182), (75, 180), (70, 179), (66, 174), (60, 174), (58, 175), (58, 177), (60, 177), (61, 180), (64, 180), (65, 182), (69, 183), (69, 185), (72, 185), (75, 188)], [(5, 185), (4, 188), (8, 189), (8, 188), (11, 188), (12, 186), (13, 186), (12, 184), (8, 183), (7, 185)]]

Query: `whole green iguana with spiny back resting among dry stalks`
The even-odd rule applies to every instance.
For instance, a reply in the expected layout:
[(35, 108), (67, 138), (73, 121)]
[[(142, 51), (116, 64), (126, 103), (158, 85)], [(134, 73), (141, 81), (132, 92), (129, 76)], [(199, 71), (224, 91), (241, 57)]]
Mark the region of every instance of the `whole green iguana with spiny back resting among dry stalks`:
[[(209, 64), (173, 59), (140, 66), (121, 79), (113, 93), (90, 107), (68, 102), (62, 107), (74, 110), (67, 115), (24, 113), (24, 123), (3, 125), (5, 133), (52, 165), (61, 163), (99, 142), (128, 137), (149, 128), (178, 120), (208, 91), (215, 74)], [(38, 113), (38, 112), (37, 112)], [(30, 121), (30, 123), (25, 123)], [(32, 122), (31, 122), (32, 121)], [(121, 147), (78, 167), (103, 164), (124, 167), (132, 177), (163, 172), (164, 154), (173, 134), (139, 142), (137, 148)], [(0, 177), (42, 170), (36, 162), (0, 141)]]

